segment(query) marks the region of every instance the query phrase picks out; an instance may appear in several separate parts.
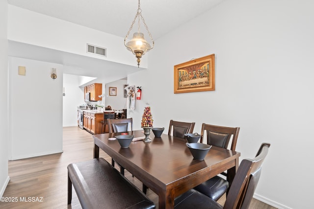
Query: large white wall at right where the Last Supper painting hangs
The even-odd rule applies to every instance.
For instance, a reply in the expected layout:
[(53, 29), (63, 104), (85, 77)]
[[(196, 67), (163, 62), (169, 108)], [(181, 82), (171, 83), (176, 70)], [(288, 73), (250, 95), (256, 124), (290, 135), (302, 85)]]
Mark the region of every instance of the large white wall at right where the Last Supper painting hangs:
[[(236, 150), (253, 158), (270, 142), (255, 197), (277, 208), (314, 208), (314, 2), (226, 0), (156, 40), (129, 111), (134, 128), (149, 101), (154, 126), (170, 119), (239, 126)], [(174, 65), (214, 53), (216, 90), (173, 93)], [(162, 60), (162, 62), (160, 62)]]

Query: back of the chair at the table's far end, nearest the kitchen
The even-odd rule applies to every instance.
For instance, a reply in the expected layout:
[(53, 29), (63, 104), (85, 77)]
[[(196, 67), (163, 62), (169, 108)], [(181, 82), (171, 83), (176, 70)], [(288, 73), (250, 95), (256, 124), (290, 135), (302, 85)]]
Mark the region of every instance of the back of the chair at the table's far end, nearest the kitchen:
[(109, 133), (133, 131), (133, 119), (107, 119)]

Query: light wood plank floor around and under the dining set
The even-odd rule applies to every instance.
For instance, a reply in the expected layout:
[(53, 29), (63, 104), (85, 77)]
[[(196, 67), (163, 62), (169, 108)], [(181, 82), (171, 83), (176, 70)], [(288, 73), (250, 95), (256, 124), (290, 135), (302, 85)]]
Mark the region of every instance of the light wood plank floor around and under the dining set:
[[(81, 209), (75, 190), (72, 204), (67, 205), (67, 165), (92, 159), (93, 146), (91, 134), (78, 127), (65, 127), (63, 153), (9, 161), (10, 182), (3, 197), (18, 201), (0, 202), (0, 209)], [(111, 158), (102, 150), (100, 157), (111, 162)], [(142, 183), (128, 171), (125, 176), (134, 185), (142, 188)], [(150, 189), (147, 195), (158, 206), (158, 196)], [(26, 202), (29, 197), (35, 202)], [(222, 205), (224, 201), (225, 196), (218, 200)], [(250, 209), (275, 208), (253, 199)]]

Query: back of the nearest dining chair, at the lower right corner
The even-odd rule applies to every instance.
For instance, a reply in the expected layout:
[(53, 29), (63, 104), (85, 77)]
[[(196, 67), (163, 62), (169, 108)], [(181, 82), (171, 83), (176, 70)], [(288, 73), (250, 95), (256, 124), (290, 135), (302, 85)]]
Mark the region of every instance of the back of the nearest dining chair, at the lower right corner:
[(249, 208), (261, 176), (262, 163), (268, 153), (269, 146), (269, 143), (262, 143), (254, 159), (241, 161), (228, 192), (224, 209)]

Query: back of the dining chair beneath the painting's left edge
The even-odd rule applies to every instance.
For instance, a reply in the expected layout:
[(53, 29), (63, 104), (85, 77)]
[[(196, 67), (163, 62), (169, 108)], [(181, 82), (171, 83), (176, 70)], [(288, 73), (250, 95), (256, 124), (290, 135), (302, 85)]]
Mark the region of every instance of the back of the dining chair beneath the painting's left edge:
[(173, 136), (184, 138), (184, 134), (193, 133), (195, 122), (180, 122), (170, 120), (168, 135), (171, 135), (173, 128)]

